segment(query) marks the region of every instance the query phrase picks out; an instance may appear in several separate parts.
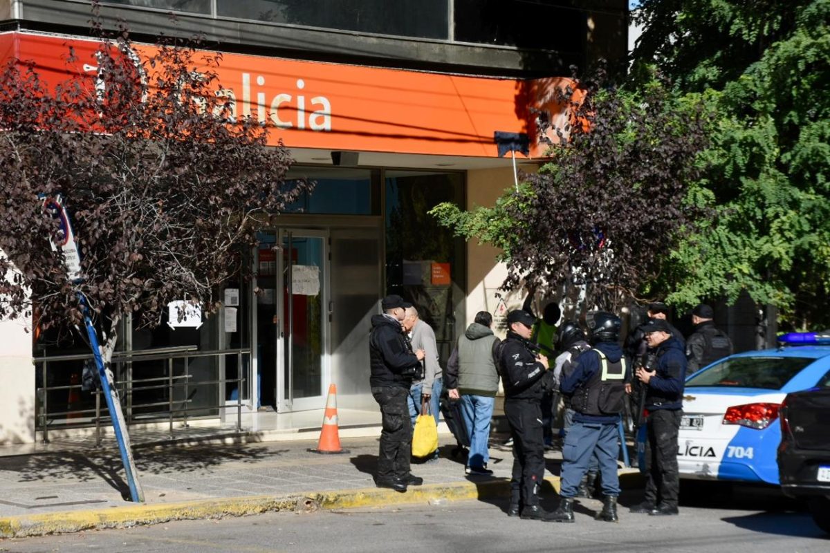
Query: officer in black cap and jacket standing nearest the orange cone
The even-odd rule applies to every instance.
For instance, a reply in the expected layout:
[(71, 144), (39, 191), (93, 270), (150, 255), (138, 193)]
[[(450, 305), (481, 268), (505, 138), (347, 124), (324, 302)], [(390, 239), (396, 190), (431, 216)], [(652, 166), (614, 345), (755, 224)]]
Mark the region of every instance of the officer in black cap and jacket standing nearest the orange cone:
[(423, 478), (409, 472), (413, 429), (407, 395), (424, 353), (422, 350), (413, 353), (403, 335), (401, 322), (412, 303), (404, 302), (398, 295), (390, 295), (383, 298), (381, 307), (383, 314), (372, 316), (369, 337), (369, 386), (374, 400), (380, 405), (383, 424), (375, 483), (378, 488), (406, 492), (407, 486), (423, 483)]

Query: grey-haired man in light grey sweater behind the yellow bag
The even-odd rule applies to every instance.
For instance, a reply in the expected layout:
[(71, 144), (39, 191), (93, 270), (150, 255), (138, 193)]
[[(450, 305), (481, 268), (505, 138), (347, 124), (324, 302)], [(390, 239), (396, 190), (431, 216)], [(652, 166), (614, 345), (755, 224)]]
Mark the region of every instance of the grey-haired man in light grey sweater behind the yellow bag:
[[(412, 342), (413, 351), (423, 350), (423, 380), (414, 381), (409, 389), (409, 418), (412, 420), (413, 428), (417, 415), (421, 413), (421, 401), (429, 403), (430, 413), (435, 417), (435, 424), (438, 424), (438, 399), (442, 390), (442, 370), (438, 362), (438, 346), (435, 341), (435, 331), (427, 323), (418, 317), (417, 309), (413, 306), (407, 308), (403, 319), (403, 330), (408, 332), (409, 341)], [(436, 449), (434, 458), (438, 457)]]

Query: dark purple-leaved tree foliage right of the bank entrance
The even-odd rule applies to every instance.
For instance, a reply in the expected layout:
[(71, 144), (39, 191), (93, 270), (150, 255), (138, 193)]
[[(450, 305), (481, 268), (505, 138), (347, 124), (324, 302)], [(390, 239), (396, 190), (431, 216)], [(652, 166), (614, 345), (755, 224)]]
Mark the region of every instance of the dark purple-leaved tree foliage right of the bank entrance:
[(658, 279), (671, 247), (706, 216), (706, 202), (687, 201), (697, 192), (686, 184), (698, 175), (705, 117), (699, 102), (657, 80), (638, 92), (581, 86), (573, 127), (555, 129), (569, 140), (551, 148), (539, 174), (496, 206), (443, 204), (432, 213), (502, 249), (505, 289), (585, 286), (588, 307), (613, 309)]

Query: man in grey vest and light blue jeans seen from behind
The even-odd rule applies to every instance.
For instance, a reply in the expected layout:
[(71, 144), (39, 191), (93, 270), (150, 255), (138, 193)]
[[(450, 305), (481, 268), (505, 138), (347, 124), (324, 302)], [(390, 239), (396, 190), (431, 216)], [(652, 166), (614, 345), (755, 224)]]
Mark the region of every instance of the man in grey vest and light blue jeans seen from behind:
[(475, 323), (467, 327), (464, 336), (458, 337), (447, 361), (448, 395), (455, 400), (461, 398), (461, 412), (470, 437), (467, 474), (493, 473), (487, 468), (487, 462), (490, 460), (490, 420), (499, 390), (499, 371), (494, 361), (499, 339), (493, 335), (492, 323), (490, 313), (476, 313)]

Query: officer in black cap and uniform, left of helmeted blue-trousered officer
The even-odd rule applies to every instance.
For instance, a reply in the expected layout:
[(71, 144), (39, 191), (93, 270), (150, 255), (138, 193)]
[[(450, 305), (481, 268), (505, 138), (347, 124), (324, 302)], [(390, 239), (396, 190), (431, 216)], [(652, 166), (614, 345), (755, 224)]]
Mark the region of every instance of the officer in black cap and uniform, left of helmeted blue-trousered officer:
[(549, 520), (550, 513), (539, 504), (544, 479), (544, 434), (540, 401), (554, 386), (548, 372), (548, 358), (539, 354), (530, 334), (533, 318), (522, 309), (507, 313), (505, 342), (499, 347), (499, 365), (505, 386), (505, 415), (513, 438), (513, 477), (510, 479), (510, 507), (507, 515), (532, 520)]

